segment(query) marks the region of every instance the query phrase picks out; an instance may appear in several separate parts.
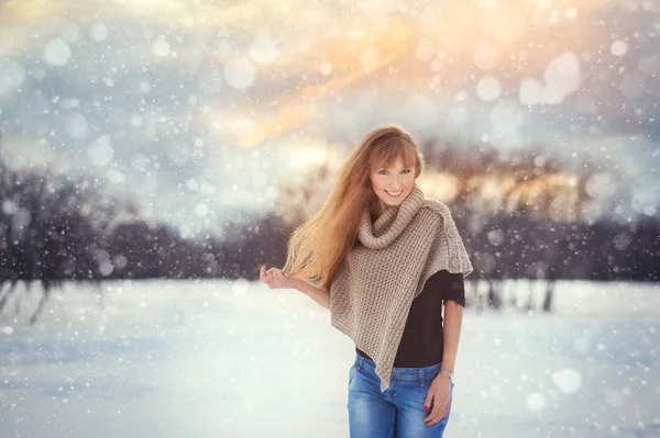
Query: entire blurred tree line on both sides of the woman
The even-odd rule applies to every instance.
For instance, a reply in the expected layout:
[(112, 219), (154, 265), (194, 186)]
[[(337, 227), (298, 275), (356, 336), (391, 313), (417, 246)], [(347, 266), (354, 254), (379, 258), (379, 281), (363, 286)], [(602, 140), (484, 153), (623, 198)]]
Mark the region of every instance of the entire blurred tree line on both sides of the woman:
[[(595, 167), (539, 159), (461, 153), (426, 144), (427, 196), (447, 202), (473, 257), (468, 282), (488, 284), (502, 305), (502, 280), (542, 279), (551, 310), (558, 279), (658, 281), (660, 221), (627, 224), (583, 217), (586, 184)], [(579, 172), (570, 167), (579, 168)], [(238, 216), (224, 239), (186, 239), (169, 225), (141, 217), (136, 206), (102, 193), (98, 180), (15, 171), (0, 161), (0, 312), (20, 281), (38, 287), (42, 301), (65, 280), (258, 278), (258, 266), (282, 266), (295, 227), (324, 201), (334, 172), (322, 166), (285, 188), (263, 217)], [(438, 181), (451, 177), (452, 190)], [(436, 191), (433, 191), (433, 189)], [(451, 199), (443, 193), (451, 192)]]

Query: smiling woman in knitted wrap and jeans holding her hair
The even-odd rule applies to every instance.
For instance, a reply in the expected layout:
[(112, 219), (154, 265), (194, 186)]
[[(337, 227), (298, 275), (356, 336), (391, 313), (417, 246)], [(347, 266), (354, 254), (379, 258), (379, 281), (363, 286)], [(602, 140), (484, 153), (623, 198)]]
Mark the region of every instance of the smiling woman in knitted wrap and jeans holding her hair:
[(447, 205), (416, 184), (424, 165), (400, 127), (372, 131), (320, 212), (293, 233), (283, 270), (261, 268), (271, 289), (297, 289), (329, 308), (355, 344), (354, 438), (441, 437), (449, 419), (472, 265)]

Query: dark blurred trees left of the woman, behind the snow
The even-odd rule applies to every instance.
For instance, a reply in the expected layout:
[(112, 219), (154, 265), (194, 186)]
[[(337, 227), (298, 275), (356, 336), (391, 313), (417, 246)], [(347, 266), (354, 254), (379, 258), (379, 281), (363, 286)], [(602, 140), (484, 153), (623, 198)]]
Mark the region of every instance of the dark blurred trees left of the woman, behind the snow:
[(103, 194), (100, 184), (48, 170), (14, 171), (0, 161), (0, 313), (20, 282), (42, 294), (34, 323), (65, 280), (254, 278), (257, 260), (279, 255), (290, 233), (271, 214), (227, 223), (229, 242), (185, 239)]

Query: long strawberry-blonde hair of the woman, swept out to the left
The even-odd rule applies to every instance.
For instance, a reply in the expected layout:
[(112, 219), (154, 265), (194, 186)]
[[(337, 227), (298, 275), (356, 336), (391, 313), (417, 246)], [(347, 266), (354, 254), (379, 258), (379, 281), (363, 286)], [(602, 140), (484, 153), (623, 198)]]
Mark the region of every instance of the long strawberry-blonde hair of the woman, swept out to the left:
[(285, 276), (319, 282), (319, 288), (330, 292), (334, 276), (355, 244), (364, 209), (372, 217), (377, 214), (378, 198), (371, 173), (389, 167), (397, 158), (406, 167), (415, 166), (416, 179), (424, 170), (425, 159), (417, 143), (400, 126), (380, 126), (362, 138), (339, 170), (321, 210), (292, 234)]

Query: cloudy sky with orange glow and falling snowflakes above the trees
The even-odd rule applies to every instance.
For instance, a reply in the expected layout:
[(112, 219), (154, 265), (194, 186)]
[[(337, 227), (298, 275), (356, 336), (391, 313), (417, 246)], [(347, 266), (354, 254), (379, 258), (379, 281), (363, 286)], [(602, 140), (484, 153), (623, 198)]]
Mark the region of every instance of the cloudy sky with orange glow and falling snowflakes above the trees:
[(634, 0), (6, 0), (0, 157), (194, 234), (394, 122), (586, 157), (657, 215), (659, 33), (660, 3)]

